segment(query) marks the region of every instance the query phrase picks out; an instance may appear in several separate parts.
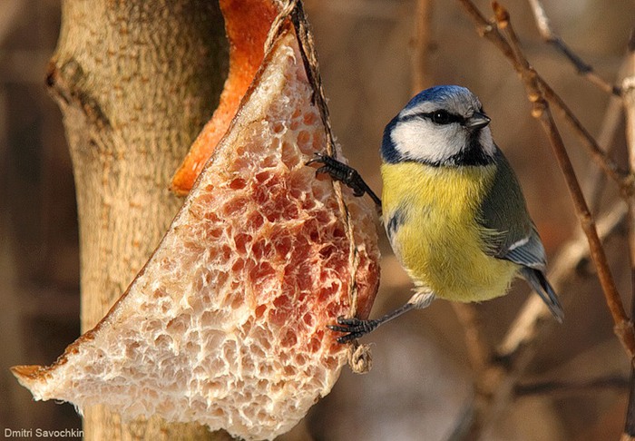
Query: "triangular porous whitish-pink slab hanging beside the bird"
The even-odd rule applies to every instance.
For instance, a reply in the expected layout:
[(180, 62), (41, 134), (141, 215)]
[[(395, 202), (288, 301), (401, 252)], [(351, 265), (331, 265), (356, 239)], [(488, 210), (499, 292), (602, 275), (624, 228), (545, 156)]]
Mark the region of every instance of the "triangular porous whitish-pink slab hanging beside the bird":
[[(127, 292), (54, 365), (13, 369), (35, 399), (265, 439), (330, 391), (347, 346), (326, 325), (349, 312), (350, 242), (332, 182), (305, 165), (325, 149), (311, 92), (285, 31)], [(364, 316), (378, 283), (374, 209), (344, 198)]]

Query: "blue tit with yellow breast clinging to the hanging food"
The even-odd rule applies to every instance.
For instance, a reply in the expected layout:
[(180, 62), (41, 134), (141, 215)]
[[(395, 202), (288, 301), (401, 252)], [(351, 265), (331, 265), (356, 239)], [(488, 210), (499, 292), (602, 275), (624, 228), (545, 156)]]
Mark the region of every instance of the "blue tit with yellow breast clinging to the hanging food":
[(415, 284), (401, 308), (380, 319), (339, 318), (345, 342), (434, 299), (478, 302), (503, 296), (521, 276), (562, 322), (545, 278), (546, 258), (521, 186), (493, 142), (490, 118), (474, 93), (455, 85), (418, 93), (386, 125), (381, 201), (357, 171), (332, 157), (312, 162), (357, 196), (381, 205), (397, 260)]

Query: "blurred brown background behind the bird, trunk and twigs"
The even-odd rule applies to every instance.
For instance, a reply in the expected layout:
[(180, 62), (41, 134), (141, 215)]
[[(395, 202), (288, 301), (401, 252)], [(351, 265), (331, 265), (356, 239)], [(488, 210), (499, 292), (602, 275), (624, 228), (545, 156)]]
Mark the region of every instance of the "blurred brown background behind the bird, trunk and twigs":
[[(489, 2), (474, 2), (490, 16)], [(544, 0), (555, 30), (597, 73), (620, 78), (632, 0)], [(523, 84), (492, 44), (480, 38), (458, 2), (432, 1), (427, 85), (456, 83), (476, 93), (492, 117), (493, 136), (519, 174), (532, 217), (553, 260), (580, 234), (568, 192)], [(414, 94), (415, 0), (305, 0), (337, 140), (379, 191), (382, 131)], [(619, 106), (542, 43), (524, 0), (503, 2), (523, 50), (583, 125), (608, 139), (625, 167)], [(79, 335), (79, 259), (73, 171), (62, 115), (44, 87), (60, 22), (54, 0), (0, 0), (0, 426), (72, 428), (68, 404), (33, 403), (8, 368), (50, 364)], [(607, 116), (608, 109), (613, 109)], [(617, 108), (617, 113), (615, 113)], [(611, 120), (612, 116), (612, 120)], [(611, 121), (613, 129), (611, 129)], [(595, 166), (558, 120), (595, 213), (612, 206), (611, 183), (596, 191)], [(410, 296), (410, 281), (382, 234), (382, 286), (373, 316)], [(607, 245), (624, 304), (630, 305), (623, 235)], [(497, 345), (529, 289), (515, 283), (502, 299), (478, 305), (488, 342)], [(603, 378), (608, 387), (517, 397), (490, 439), (617, 439), (627, 403), (629, 363), (593, 271), (577, 269), (561, 292), (566, 319), (542, 341), (521, 384)], [(374, 366), (365, 376), (343, 369), (332, 393), (285, 439), (445, 439), (472, 395), (464, 331), (454, 309), (437, 301), (366, 338)]]

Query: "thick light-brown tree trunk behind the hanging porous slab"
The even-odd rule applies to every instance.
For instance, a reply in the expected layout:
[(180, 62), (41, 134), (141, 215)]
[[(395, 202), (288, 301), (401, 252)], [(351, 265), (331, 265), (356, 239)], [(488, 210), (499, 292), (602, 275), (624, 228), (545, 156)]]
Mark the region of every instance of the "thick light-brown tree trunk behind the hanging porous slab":
[[(181, 200), (172, 173), (213, 112), (227, 70), (217, 2), (65, 0), (47, 84), (64, 114), (80, 226), (82, 328), (158, 245)], [(86, 439), (227, 439), (159, 418), (84, 414)]]

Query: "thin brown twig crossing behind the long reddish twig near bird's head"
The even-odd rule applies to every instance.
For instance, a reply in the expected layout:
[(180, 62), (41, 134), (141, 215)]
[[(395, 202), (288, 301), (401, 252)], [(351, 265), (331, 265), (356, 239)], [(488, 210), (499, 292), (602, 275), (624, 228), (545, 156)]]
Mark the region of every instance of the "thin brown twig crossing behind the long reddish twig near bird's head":
[[(471, 0), (458, 0), (458, 2), (464, 6), (466, 13), (472, 18), (476, 27), (476, 32), (493, 43), (513, 64), (513, 68), (516, 72), (521, 73), (523, 69), (521, 64), (514, 57), (512, 47), (505, 40), (503, 34), (499, 32), (496, 25), (485, 19), (484, 15), (482, 15), (478, 8), (474, 6)], [(623, 194), (630, 194), (635, 189), (635, 181), (633, 180), (632, 174), (620, 169), (617, 163), (602, 151), (600, 145), (598, 145), (591, 136), (591, 133), (582, 126), (581, 122), (575, 117), (575, 115), (573, 115), (571, 109), (567, 107), (560, 96), (552, 90), (549, 84), (547, 84), (540, 75), (537, 73), (534, 74), (535, 80), (542, 88), (544, 97), (561, 111), (565, 121), (571, 125), (573, 132), (580, 136), (584, 146), (591, 154), (593, 161), (596, 162), (601, 170), (620, 186), (620, 190)]]

